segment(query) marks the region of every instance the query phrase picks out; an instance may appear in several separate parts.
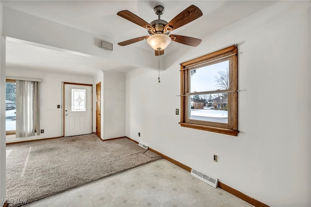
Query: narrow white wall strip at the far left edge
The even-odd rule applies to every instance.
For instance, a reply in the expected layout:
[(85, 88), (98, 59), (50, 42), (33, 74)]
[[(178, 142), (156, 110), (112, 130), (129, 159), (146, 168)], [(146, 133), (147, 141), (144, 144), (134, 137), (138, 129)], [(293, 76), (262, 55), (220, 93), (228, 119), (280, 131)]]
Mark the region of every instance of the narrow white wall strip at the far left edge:
[[(0, 2), (0, 34), (2, 34), (2, 4)], [(6, 197), (5, 184), (5, 39), (0, 35), (0, 206)]]

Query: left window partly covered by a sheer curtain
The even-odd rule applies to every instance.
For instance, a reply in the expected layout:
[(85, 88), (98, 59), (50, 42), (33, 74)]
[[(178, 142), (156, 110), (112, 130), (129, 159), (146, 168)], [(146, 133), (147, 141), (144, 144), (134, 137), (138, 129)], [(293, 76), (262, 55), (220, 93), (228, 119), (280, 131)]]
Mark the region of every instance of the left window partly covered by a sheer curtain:
[(7, 76), (6, 135), (16, 138), (40, 135), (41, 80)]

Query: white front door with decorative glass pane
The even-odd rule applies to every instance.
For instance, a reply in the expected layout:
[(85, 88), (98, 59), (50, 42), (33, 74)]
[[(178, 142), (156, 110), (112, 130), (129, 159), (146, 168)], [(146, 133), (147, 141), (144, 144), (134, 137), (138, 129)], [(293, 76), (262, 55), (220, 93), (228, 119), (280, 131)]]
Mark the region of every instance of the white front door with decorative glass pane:
[(64, 137), (92, 133), (92, 86), (64, 84)]

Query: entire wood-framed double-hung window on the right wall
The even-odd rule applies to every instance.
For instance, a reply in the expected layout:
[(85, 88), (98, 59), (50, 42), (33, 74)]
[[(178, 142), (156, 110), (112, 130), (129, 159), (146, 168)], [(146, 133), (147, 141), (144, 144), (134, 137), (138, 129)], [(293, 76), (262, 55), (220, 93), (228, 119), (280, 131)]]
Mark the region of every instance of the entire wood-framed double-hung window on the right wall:
[(238, 48), (231, 46), (181, 64), (180, 125), (237, 136)]

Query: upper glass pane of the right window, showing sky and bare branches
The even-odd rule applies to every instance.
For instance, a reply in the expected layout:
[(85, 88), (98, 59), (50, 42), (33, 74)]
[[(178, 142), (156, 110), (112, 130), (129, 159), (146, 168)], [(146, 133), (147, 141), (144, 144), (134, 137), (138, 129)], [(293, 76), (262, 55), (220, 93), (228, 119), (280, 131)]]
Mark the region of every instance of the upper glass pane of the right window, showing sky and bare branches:
[(190, 70), (190, 92), (229, 88), (229, 60)]

